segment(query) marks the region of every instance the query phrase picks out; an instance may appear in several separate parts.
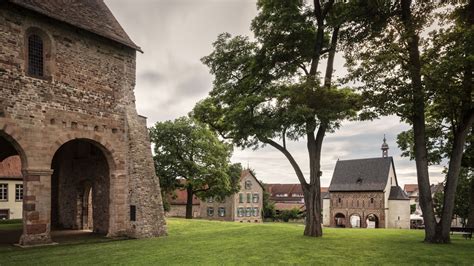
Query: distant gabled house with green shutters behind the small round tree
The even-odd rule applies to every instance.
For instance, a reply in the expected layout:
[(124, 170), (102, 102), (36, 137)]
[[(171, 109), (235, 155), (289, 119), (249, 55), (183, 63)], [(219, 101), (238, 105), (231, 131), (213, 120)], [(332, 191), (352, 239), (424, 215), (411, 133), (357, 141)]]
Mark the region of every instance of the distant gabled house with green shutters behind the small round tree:
[[(186, 191), (177, 190), (170, 201), (169, 216), (185, 217)], [(208, 220), (262, 222), (263, 186), (249, 171), (240, 176), (240, 191), (223, 200), (193, 198), (193, 217)]]

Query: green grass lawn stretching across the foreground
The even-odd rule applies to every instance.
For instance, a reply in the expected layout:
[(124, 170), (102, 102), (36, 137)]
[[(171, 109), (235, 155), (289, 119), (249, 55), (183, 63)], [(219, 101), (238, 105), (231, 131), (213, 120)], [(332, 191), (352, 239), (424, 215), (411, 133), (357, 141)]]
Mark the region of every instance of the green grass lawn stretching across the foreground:
[(0, 265), (474, 264), (474, 241), (459, 235), (450, 245), (430, 245), (414, 230), (327, 228), (323, 238), (309, 238), (298, 224), (184, 219), (169, 219), (168, 229), (155, 239), (0, 246)]

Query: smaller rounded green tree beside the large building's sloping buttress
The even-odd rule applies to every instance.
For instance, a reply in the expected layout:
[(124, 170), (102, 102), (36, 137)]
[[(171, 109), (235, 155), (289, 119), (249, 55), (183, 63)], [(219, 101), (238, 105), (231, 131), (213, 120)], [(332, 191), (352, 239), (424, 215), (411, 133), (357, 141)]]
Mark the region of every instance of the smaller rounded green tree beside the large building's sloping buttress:
[(206, 125), (181, 117), (150, 128), (156, 174), (164, 193), (187, 191), (186, 218), (193, 197), (223, 199), (238, 191), (242, 167), (230, 164), (232, 146), (219, 140)]

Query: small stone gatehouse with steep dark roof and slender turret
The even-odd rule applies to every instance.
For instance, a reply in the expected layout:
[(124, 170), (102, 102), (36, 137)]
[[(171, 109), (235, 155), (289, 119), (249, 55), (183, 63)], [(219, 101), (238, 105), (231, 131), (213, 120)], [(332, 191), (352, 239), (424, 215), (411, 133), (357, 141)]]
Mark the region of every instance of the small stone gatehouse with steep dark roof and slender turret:
[(323, 223), (332, 227), (410, 228), (410, 199), (400, 188), (388, 145), (383, 157), (337, 161), (323, 199)]

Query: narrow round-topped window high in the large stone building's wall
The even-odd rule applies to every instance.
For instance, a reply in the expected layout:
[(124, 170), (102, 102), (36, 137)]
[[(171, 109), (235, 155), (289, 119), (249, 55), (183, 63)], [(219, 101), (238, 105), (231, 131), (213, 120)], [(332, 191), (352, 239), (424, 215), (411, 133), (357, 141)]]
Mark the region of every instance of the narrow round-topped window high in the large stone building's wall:
[(28, 74), (44, 76), (44, 45), (43, 39), (36, 34), (28, 37)]

